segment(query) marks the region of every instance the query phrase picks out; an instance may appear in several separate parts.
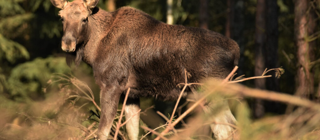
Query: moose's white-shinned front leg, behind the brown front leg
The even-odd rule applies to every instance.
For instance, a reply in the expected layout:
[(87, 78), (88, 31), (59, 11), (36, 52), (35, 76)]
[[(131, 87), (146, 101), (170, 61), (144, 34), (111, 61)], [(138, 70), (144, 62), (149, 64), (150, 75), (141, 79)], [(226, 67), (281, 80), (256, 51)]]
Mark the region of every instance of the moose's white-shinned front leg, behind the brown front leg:
[(124, 114), (125, 114), (125, 119), (129, 119), (130, 117), (132, 117), (125, 124), (130, 140), (138, 139), (140, 113), (137, 113), (137, 112), (139, 111), (139, 109), (140, 109), (140, 99), (128, 98), (126, 106), (124, 107)]

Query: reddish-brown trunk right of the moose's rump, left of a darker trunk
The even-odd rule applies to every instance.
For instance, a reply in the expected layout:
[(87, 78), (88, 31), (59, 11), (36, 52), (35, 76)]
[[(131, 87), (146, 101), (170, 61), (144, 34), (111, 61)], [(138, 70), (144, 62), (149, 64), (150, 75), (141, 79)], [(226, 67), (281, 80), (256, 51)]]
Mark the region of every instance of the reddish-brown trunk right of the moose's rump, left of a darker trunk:
[[(265, 10), (266, 4), (265, 0), (257, 1), (257, 11), (256, 11), (256, 33), (255, 33), (255, 76), (261, 76), (265, 70), (265, 61), (264, 61), (264, 48), (266, 43), (265, 36)], [(258, 78), (254, 80), (256, 88), (266, 89), (266, 79)], [(264, 106), (261, 99), (255, 99), (254, 103), (254, 116), (260, 118), (264, 115)]]

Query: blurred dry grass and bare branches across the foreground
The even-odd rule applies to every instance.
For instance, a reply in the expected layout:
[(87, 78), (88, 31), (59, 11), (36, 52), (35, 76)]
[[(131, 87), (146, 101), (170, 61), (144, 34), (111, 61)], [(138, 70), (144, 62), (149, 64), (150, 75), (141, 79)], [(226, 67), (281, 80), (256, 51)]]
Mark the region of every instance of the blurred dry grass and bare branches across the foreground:
[[(188, 106), (188, 108), (181, 112), (182, 107), (179, 107), (179, 102), (182, 93), (187, 86), (197, 84), (188, 83), (187, 71), (185, 71), (186, 80), (185, 83), (181, 83), (184, 87), (172, 114), (166, 117), (159, 112), (167, 121), (166, 124), (162, 124), (155, 129), (150, 129), (146, 124), (143, 124), (141, 128), (145, 130), (145, 133), (140, 138), (213, 139), (211, 136), (198, 134), (198, 129), (213, 123), (234, 127), (236, 131), (229, 136), (230, 139), (318, 139), (320, 137), (320, 104), (284, 93), (261, 91), (235, 84), (254, 78), (270, 77), (266, 75), (270, 70), (265, 70), (260, 77), (244, 78), (240, 76), (234, 78), (236, 69), (237, 67), (223, 81), (216, 79), (207, 81), (199, 97), (197, 99), (187, 99), (187, 102), (182, 106)], [(278, 76), (283, 73), (281, 68), (271, 70), (275, 70)], [(57, 83), (60, 91), (51, 94), (51, 97), (47, 100), (34, 103), (31, 106), (33, 108), (32, 112), (17, 112), (15, 119), (5, 120), (4, 128), (0, 131), (0, 139), (94, 139), (99, 125), (100, 107), (95, 102), (93, 92), (86, 83), (73, 76), (54, 74), (49, 84)], [(130, 89), (126, 97), (128, 94), (130, 94)], [(294, 105), (297, 109), (290, 114), (272, 115), (259, 120), (252, 120), (250, 108), (245, 98), (283, 102)], [(210, 115), (219, 114), (221, 110), (219, 103), (223, 100), (228, 100), (233, 106), (232, 108), (236, 108), (234, 109), (234, 115), (238, 121), (237, 126), (212, 122), (210, 116), (199, 111), (199, 108), (201, 110), (201, 107), (204, 106), (205, 101), (211, 101), (217, 103), (218, 106), (213, 109), (214, 112)], [(114, 119), (111, 134), (111, 136), (114, 136), (114, 140), (128, 139), (125, 134), (125, 123), (128, 120), (125, 121), (123, 118), (125, 103), (126, 99), (122, 109), (118, 110)], [(87, 108), (91, 109), (90, 113), (88, 113)], [(139, 110), (136, 114), (144, 112)], [(175, 116), (177, 112), (179, 112), (179, 115)], [(193, 117), (187, 119), (186, 123), (186, 117), (190, 114), (193, 114)], [(1, 118), (8, 117), (0, 115)], [(179, 122), (183, 122), (183, 127), (175, 128)]]

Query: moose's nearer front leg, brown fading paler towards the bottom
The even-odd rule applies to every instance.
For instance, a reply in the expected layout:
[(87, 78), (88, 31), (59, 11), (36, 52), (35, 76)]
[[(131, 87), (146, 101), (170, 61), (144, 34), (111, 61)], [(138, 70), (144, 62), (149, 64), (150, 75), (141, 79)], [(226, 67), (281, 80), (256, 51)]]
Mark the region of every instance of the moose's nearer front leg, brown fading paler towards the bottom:
[(120, 95), (123, 90), (117, 86), (101, 88), (100, 106), (101, 115), (98, 127), (98, 139), (106, 140), (109, 136), (113, 119), (116, 116)]

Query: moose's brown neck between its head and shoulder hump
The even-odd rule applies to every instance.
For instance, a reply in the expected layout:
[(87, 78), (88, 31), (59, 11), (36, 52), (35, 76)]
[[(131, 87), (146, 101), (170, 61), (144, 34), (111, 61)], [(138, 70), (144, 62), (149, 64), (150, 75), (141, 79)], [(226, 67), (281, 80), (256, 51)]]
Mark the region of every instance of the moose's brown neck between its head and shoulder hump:
[(88, 17), (87, 41), (84, 41), (84, 46), (78, 50), (76, 56), (76, 61), (80, 62), (82, 59), (90, 66), (93, 66), (96, 59), (96, 53), (99, 51), (99, 41), (106, 32), (108, 32), (111, 23), (113, 22), (111, 12), (99, 8), (96, 8), (95, 10), (96, 12)]

